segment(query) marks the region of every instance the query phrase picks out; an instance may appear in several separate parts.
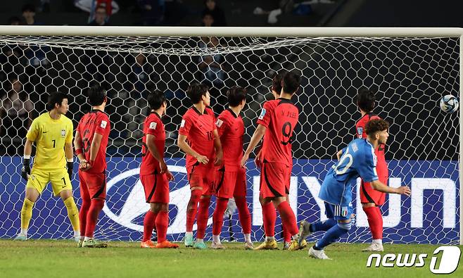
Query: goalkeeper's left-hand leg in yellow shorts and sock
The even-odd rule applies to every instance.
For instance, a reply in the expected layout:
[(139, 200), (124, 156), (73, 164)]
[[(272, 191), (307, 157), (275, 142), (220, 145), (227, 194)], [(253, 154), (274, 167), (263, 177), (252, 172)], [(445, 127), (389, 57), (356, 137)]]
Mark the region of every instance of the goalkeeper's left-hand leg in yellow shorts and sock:
[(27, 229), (29, 229), (29, 223), (32, 218), (32, 208), (34, 208), (35, 201), (37, 201), (37, 198), (39, 198), (48, 183), (48, 173), (32, 168), (26, 184), (23, 207), (21, 208), (21, 231), (15, 237), (15, 240), (27, 240)]

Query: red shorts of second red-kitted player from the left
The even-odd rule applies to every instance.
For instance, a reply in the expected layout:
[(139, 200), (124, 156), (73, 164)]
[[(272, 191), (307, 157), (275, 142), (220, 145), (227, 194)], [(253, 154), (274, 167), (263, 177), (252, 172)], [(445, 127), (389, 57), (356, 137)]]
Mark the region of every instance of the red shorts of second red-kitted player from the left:
[(169, 181), (165, 174), (140, 175), (146, 203), (169, 203)]

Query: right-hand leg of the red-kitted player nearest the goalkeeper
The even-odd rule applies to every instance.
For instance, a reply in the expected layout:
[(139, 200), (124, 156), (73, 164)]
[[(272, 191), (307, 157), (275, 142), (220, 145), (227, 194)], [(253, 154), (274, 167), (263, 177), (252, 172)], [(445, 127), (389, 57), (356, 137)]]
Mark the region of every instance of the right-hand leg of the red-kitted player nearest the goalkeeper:
[(87, 173), (86, 183), (90, 194), (90, 208), (87, 213), (87, 227), (85, 227), (85, 237), (82, 247), (105, 248), (107, 244), (94, 239), (96, 222), (98, 215), (103, 209), (106, 198), (106, 175), (104, 173)]

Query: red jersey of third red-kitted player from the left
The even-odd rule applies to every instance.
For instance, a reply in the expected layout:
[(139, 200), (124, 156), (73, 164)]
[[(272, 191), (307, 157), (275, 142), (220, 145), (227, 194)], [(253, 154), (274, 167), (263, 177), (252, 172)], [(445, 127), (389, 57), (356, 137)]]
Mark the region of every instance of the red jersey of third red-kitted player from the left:
[[(204, 113), (198, 111), (194, 106), (189, 108), (182, 117), (179, 134), (186, 136), (187, 143), (201, 156), (206, 156), (209, 163), (214, 163), (214, 111), (206, 107)], [(193, 166), (198, 160), (193, 156), (186, 155), (186, 167)]]

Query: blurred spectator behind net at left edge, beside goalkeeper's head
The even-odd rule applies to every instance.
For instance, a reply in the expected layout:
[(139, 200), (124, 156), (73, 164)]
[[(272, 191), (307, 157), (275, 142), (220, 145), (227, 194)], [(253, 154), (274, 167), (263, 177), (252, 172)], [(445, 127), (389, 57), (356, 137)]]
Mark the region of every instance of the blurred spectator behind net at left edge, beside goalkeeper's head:
[(23, 91), (23, 84), (18, 78), (11, 80), (11, 88), (0, 102), (0, 137), (7, 135), (24, 139), (32, 122), (34, 105)]

